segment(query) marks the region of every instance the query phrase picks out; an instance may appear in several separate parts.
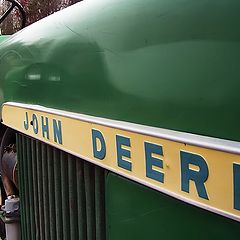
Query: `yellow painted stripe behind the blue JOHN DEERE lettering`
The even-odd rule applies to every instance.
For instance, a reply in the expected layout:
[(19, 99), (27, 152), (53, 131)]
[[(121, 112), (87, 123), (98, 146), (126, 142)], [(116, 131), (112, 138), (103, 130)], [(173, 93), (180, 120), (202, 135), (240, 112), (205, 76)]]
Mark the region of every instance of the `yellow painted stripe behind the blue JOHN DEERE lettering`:
[[(234, 209), (233, 186), (233, 164), (240, 164), (240, 156), (238, 154), (203, 148), (134, 131), (126, 131), (116, 127), (104, 126), (103, 124), (91, 121), (62, 116), (57, 114), (57, 111), (56, 113), (49, 113), (48, 111), (37, 109), (37, 107), (36, 110), (30, 109), (27, 105), (19, 107), (13, 104), (5, 104), (2, 108), (3, 124), (161, 192), (240, 221), (240, 211)], [(24, 127), (26, 114), (29, 118), (27, 130)], [(30, 124), (33, 120), (33, 114), (35, 114), (37, 119), (33, 122), (34, 126)], [(46, 134), (43, 137), (41, 117), (44, 118), (44, 121), (48, 118), (49, 139), (47, 139)], [(58, 121), (61, 122), (62, 144), (59, 143), (59, 139), (55, 139), (54, 141), (54, 121), (55, 123), (58, 123)], [(38, 132), (34, 133), (36, 123), (38, 124)], [(104, 136), (106, 156), (103, 160), (94, 158), (92, 129), (100, 131)], [(127, 137), (130, 140), (131, 147), (123, 145), (122, 148), (128, 150), (131, 154), (130, 159), (124, 158), (132, 164), (131, 171), (118, 165), (116, 135)], [(163, 161), (163, 168), (153, 166), (152, 169), (164, 174), (164, 183), (146, 176), (146, 154), (144, 148), (144, 143), (146, 142), (162, 147), (163, 156), (152, 154), (152, 157), (161, 159)], [(97, 143), (99, 149), (101, 145), (99, 141)], [(194, 181), (190, 180), (189, 193), (182, 190), (181, 151), (196, 154), (206, 161), (209, 177), (204, 186), (209, 197), (208, 200), (199, 196)], [(189, 168), (196, 172), (199, 171), (199, 167), (196, 165), (189, 165)]]

